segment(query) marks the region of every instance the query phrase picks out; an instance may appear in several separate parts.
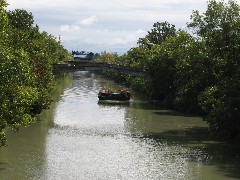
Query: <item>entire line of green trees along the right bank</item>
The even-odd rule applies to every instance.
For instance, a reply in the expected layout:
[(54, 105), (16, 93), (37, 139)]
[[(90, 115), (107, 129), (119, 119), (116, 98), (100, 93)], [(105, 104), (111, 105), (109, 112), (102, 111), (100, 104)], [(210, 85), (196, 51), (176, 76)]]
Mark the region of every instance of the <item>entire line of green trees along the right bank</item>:
[[(149, 99), (200, 114), (213, 134), (240, 138), (240, 6), (229, 0), (194, 10), (187, 30), (156, 22), (123, 56), (102, 52), (99, 61), (144, 69), (150, 80), (115, 75)], [(111, 74), (113, 77), (114, 74)]]

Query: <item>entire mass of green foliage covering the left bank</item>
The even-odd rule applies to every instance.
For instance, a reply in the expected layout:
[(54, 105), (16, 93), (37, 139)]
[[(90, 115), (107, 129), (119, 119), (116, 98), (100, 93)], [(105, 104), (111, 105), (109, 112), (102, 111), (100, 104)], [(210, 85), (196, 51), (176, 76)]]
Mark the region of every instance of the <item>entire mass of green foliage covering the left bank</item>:
[(0, 146), (6, 145), (4, 129), (28, 126), (48, 107), (52, 64), (68, 56), (60, 42), (34, 26), (31, 13), (7, 11), (7, 5), (0, 1)]

